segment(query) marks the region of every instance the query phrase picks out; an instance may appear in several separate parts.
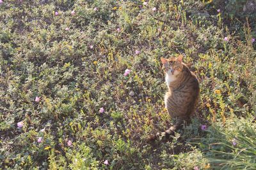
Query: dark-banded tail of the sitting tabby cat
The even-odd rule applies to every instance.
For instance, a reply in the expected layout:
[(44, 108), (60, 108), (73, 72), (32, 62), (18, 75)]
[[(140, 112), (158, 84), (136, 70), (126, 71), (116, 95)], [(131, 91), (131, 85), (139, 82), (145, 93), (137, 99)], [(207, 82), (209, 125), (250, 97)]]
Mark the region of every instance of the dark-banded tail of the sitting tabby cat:
[(157, 134), (151, 135), (148, 137), (147, 141), (156, 141), (156, 139), (160, 138), (168, 138), (169, 136), (173, 136), (175, 132), (182, 127), (182, 122), (176, 122), (174, 125), (172, 125), (169, 129), (167, 129), (164, 132), (157, 132)]

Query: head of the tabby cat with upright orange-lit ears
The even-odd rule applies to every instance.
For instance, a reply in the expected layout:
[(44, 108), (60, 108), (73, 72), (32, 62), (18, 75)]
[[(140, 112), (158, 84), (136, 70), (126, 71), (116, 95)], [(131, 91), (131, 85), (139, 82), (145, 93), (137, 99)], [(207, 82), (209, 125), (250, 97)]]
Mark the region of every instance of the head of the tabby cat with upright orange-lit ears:
[(178, 75), (182, 69), (182, 55), (179, 55), (177, 58), (164, 59), (161, 57), (161, 61), (163, 63), (164, 73), (172, 75)]

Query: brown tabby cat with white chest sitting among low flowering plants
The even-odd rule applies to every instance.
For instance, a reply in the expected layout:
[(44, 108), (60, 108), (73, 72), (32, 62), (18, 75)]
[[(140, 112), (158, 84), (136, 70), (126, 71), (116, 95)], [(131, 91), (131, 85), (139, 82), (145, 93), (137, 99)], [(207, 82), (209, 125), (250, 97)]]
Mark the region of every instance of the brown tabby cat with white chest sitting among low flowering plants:
[(182, 62), (182, 55), (179, 55), (176, 59), (161, 57), (161, 62), (168, 87), (168, 92), (164, 96), (165, 108), (170, 117), (177, 122), (161, 134), (158, 132), (156, 135), (150, 136), (149, 140), (156, 139), (159, 136), (173, 135), (183, 122), (190, 120), (199, 101), (199, 81), (188, 66)]

